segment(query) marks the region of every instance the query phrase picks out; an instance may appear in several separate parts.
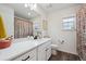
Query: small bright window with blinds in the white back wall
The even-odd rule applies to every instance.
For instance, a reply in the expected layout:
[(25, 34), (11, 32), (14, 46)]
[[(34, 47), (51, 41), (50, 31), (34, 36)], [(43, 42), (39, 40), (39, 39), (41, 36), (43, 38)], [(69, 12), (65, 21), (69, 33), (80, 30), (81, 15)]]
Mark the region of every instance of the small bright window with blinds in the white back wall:
[(62, 20), (62, 28), (64, 30), (74, 30), (75, 29), (75, 17), (65, 17)]

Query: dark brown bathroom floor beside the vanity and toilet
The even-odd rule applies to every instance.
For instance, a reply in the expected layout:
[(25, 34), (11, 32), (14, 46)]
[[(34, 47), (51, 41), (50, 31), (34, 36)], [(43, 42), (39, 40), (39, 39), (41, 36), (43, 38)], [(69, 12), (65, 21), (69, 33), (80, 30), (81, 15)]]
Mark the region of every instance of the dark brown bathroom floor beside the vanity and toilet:
[(62, 51), (57, 51), (57, 55), (51, 55), (49, 61), (81, 61), (77, 55)]

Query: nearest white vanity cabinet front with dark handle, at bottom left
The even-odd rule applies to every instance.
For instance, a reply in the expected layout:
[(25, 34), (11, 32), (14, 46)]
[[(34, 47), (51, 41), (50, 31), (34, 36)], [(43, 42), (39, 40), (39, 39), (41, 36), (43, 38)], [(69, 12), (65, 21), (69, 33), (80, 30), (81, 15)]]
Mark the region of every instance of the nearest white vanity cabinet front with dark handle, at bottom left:
[(19, 56), (17, 59), (15, 59), (14, 61), (29, 61), (30, 59), (35, 57), (36, 59), (36, 49)]

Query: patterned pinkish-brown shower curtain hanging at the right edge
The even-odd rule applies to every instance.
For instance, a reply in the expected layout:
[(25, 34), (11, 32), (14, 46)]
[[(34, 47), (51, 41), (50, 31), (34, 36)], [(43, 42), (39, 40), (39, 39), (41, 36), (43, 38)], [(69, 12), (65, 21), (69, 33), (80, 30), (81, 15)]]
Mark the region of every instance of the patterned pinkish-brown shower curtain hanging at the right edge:
[(86, 4), (76, 13), (76, 35), (78, 56), (86, 61)]

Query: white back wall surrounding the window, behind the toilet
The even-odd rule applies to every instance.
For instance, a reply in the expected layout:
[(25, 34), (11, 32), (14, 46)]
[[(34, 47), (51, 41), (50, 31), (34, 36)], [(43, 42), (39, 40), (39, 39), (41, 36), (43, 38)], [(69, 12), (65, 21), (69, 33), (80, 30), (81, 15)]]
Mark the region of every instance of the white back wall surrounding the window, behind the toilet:
[[(52, 43), (59, 46), (60, 51), (76, 53), (76, 31), (62, 30), (62, 17), (75, 15), (77, 7), (71, 7), (60, 11), (56, 11), (48, 16), (48, 34), (52, 38)], [(65, 42), (61, 44), (60, 40)]]

